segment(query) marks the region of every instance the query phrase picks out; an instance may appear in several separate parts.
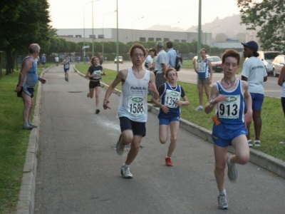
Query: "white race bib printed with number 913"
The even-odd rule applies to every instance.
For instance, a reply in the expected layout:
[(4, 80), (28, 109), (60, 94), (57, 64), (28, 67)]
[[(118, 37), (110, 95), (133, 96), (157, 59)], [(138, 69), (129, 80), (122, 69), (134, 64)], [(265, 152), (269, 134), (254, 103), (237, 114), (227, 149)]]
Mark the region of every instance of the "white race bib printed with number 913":
[(227, 96), (225, 101), (219, 102), (219, 118), (239, 118), (240, 96)]

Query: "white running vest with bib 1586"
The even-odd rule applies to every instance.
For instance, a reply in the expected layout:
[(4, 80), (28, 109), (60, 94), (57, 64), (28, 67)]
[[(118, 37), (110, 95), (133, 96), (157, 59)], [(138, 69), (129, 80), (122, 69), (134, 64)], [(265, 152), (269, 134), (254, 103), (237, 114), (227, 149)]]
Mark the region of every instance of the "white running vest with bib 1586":
[(150, 82), (150, 71), (145, 71), (141, 79), (135, 78), (133, 69), (128, 68), (128, 76), (122, 86), (118, 117), (127, 117), (131, 121), (147, 121), (147, 88)]

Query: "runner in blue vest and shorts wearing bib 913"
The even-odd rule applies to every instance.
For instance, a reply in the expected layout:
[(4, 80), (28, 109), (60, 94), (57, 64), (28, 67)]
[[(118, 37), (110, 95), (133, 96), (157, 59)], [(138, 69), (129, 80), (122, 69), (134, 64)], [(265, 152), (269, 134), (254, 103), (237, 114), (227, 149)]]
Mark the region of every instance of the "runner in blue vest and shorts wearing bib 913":
[[(217, 181), (218, 208), (227, 209), (229, 205), (224, 189), (224, 169), (228, 166), (230, 181), (237, 180), (236, 164), (244, 165), (249, 161), (249, 146), (247, 144), (246, 123), (252, 121), (252, 97), (246, 81), (236, 78), (239, 68), (240, 55), (234, 49), (224, 51), (222, 55), (222, 68), (224, 77), (212, 86), (211, 96), (204, 111), (216, 114), (212, 131), (214, 142), (214, 175)], [(247, 113), (244, 114), (244, 104)], [(227, 154), (228, 146), (235, 149), (234, 155)]]

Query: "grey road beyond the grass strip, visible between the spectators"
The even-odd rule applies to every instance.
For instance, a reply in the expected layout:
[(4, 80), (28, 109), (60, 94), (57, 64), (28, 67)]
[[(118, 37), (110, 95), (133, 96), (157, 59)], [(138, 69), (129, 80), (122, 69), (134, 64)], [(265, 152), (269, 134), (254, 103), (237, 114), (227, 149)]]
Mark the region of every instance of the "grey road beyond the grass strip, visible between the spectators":
[[(128, 68), (132, 65), (130, 62), (125, 62), (123, 64), (120, 64), (120, 69)], [(115, 63), (103, 63), (104, 68), (109, 68), (112, 70), (117, 70), (117, 64)], [(214, 73), (213, 74), (213, 83), (216, 81), (219, 81), (224, 76), (223, 73)], [(237, 75), (238, 78), (240, 78), (239, 75)], [(193, 69), (181, 69), (178, 73), (178, 78), (180, 81), (185, 83), (197, 83), (197, 74)], [(274, 76), (268, 76), (267, 81), (264, 82), (264, 92), (265, 96), (271, 96), (275, 98), (280, 98), (281, 96), (281, 87), (277, 84), (278, 78)]]

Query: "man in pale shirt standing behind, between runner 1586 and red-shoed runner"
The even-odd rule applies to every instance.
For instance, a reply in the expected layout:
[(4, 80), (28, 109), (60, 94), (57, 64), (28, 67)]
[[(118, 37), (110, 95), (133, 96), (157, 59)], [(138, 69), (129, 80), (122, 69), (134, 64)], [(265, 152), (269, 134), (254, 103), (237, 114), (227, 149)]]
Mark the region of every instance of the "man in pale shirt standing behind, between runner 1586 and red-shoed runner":
[(158, 55), (155, 62), (155, 71), (157, 71), (155, 76), (155, 85), (157, 86), (157, 88), (159, 88), (160, 85), (165, 83), (166, 81), (164, 76), (165, 76), (165, 71), (168, 68), (169, 60), (167, 53), (165, 52), (165, 50), (163, 50), (162, 41), (157, 41), (156, 48)]

